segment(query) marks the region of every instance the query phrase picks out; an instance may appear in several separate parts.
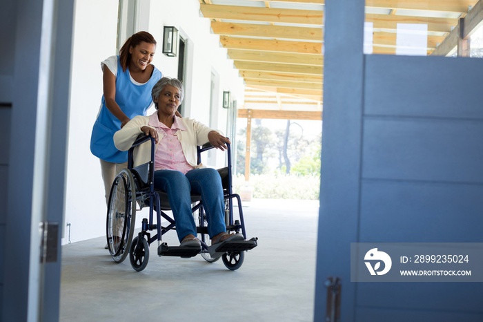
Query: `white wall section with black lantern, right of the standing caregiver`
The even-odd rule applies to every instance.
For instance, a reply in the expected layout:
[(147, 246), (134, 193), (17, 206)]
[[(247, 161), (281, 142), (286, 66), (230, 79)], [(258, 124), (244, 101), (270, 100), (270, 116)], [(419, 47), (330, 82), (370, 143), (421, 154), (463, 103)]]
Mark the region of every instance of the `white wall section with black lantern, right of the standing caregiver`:
[[(232, 100), (238, 100), (238, 106), (243, 104), (244, 84), (233, 68), (233, 61), (228, 59), (226, 49), (221, 48), (219, 36), (210, 32), (210, 20), (201, 17), (199, 1), (150, 1), (150, 32), (159, 41), (155, 63), (167, 76), (177, 75), (177, 57), (167, 57), (161, 53), (163, 27), (175, 26), (180, 35), (188, 41), (187, 77), (185, 81), (187, 116), (193, 117), (204, 124), (210, 124), (210, 80), (211, 72), (219, 75), (217, 102), (215, 113), (217, 122), (210, 124), (226, 133), (228, 110), (221, 108), (223, 91), (230, 91)], [(186, 116), (186, 115), (185, 115)], [(222, 167), (225, 158), (223, 153), (214, 155), (210, 151), (208, 165)]]

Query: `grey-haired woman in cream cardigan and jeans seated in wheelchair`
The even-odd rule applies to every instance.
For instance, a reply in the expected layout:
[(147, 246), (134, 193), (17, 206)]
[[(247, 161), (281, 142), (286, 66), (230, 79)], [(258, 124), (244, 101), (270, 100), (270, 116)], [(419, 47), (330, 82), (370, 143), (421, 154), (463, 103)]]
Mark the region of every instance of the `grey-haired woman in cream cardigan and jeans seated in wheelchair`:
[(224, 220), (224, 196), (218, 171), (197, 164), (197, 146), (210, 142), (224, 151), (228, 138), (208, 126), (175, 115), (183, 100), (183, 84), (163, 77), (151, 95), (157, 111), (137, 116), (114, 135), (117, 149), (126, 151), (140, 133), (155, 138), (155, 189), (168, 194), (180, 246), (201, 249), (191, 212), (190, 193), (201, 196), (208, 220), (211, 245), (226, 240), (243, 240), (242, 234), (228, 234)]

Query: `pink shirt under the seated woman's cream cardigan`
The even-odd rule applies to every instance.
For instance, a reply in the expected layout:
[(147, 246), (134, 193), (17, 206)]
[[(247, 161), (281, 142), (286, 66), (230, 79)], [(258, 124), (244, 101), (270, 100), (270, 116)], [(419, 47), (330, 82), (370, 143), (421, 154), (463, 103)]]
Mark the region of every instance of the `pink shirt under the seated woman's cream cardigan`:
[(186, 161), (186, 158), (177, 137), (177, 131), (186, 131), (184, 124), (178, 122), (175, 116), (175, 122), (171, 129), (164, 123), (159, 122), (157, 113), (150, 115), (148, 125), (154, 127), (158, 131), (159, 142), (155, 153), (155, 170), (177, 170), (186, 174), (193, 170), (193, 167)]

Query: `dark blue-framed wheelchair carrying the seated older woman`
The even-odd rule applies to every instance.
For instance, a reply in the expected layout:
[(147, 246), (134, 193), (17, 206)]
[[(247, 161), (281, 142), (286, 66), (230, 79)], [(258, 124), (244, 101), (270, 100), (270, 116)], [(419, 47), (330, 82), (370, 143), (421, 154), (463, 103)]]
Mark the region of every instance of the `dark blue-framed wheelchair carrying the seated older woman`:
[[(135, 148), (140, 144), (151, 145), (150, 162), (133, 167)], [(162, 236), (176, 229), (176, 222), (166, 211), (170, 205), (166, 193), (154, 188), (155, 140), (144, 134), (139, 135), (128, 151), (128, 168), (123, 169), (112, 182), (108, 202), (106, 220), (106, 238), (112, 259), (122, 263), (129, 255), (133, 269), (141, 272), (149, 261), (149, 245), (157, 240), (158, 256), (179, 256), (190, 258), (200, 254), (208, 263), (214, 263), (222, 258), (226, 268), (239, 269), (244, 262), (244, 252), (257, 246), (256, 237), (247, 240), (242, 211), (242, 201), (238, 194), (232, 191), (231, 149), (228, 146), (228, 167), (219, 169), (224, 189), (225, 223), (227, 232), (243, 234), (244, 240), (228, 240), (216, 245), (210, 245), (206, 213), (201, 196), (191, 196), (192, 212), (197, 223), (197, 238), (201, 241), (201, 251), (193, 247), (170, 246), (163, 242)], [(201, 163), (201, 153), (213, 149), (208, 142), (197, 146), (198, 164)], [(233, 202), (238, 205), (238, 216), (233, 216)], [(137, 209), (136, 204), (139, 206)], [(136, 211), (149, 207), (149, 218), (141, 220), (141, 231), (135, 235)], [(154, 221), (156, 220), (156, 221)], [(161, 220), (166, 222), (162, 222)], [(151, 236), (153, 231), (154, 236)]]

